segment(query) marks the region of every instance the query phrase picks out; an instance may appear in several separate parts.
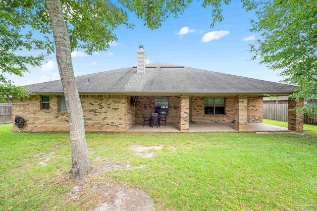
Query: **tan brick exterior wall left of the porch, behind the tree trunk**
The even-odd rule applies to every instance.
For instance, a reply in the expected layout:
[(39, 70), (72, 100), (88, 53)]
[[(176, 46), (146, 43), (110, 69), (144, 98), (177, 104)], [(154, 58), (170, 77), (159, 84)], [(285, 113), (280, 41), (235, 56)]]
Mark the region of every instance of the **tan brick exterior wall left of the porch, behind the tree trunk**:
[[(26, 132), (69, 131), (68, 113), (59, 112), (58, 95), (50, 96), (50, 109), (41, 110), (41, 96), (16, 100), (13, 116), (20, 115), (26, 120)], [(84, 113), (85, 130), (91, 132), (126, 131), (134, 122), (134, 111), (129, 108), (124, 95), (80, 95)], [(14, 130), (18, 128), (14, 126)]]

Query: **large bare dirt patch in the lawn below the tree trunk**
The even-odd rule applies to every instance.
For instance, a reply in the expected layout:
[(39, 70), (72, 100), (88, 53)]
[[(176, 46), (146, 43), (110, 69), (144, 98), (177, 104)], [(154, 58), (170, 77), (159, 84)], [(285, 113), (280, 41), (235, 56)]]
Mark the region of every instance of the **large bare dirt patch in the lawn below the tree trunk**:
[[(113, 164), (108, 162), (107, 166)], [(118, 163), (114, 166), (118, 166)], [(113, 170), (112, 167), (110, 169)], [(102, 181), (103, 177), (94, 168), (85, 182), (70, 182), (69, 185), (73, 187), (64, 195), (65, 203), (87, 206), (83, 210), (93, 211), (154, 211), (154, 200), (148, 193), (128, 185)], [(83, 204), (83, 201), (86, 203)]]

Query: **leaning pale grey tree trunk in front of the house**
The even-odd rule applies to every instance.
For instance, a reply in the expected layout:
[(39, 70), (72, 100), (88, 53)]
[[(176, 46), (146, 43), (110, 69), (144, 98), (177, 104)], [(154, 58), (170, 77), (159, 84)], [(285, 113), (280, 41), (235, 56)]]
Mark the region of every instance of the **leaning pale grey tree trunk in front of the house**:
[(74, 180), (83, 180), (91, 171), (85, 137), (83, 110), (81, 108), (66, 23), (60, 0), (46, 0), (55, 41), (56, 60), (69, 116), (71, 175)]

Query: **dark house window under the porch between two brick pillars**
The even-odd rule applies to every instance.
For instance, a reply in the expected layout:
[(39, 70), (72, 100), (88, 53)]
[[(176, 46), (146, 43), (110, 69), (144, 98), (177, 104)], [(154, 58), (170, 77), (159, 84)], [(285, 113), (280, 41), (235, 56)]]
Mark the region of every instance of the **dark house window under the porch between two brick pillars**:
[(225, 114), (224, 98), (205, 98), (205, 114)]

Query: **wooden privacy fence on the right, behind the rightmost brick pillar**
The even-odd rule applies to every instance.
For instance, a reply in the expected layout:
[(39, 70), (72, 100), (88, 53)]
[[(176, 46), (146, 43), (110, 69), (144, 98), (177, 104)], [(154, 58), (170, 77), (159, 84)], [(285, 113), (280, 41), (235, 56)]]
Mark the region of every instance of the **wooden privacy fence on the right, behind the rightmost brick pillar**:
[[(316, 118), (310, 118), (310, 114), (304, 114), (304, 124), (317, 125)], [(263, 105), (263, 118), (273, 119), (278, 121), (288, 121), (288, 104), (264, 104)]]

